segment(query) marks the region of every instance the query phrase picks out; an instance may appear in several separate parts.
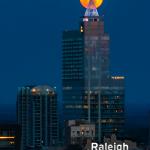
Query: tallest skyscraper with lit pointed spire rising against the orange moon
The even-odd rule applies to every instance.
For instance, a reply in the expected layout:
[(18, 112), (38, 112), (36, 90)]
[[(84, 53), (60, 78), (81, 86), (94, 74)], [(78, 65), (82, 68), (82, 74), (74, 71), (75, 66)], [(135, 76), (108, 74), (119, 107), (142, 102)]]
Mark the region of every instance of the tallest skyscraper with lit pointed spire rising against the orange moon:
[(124, 124), (124, 77), (110, 74), (109, 41), (93, 0), (80, 28), (63, 32), (64, 119), (95, 123), (99, 140)]

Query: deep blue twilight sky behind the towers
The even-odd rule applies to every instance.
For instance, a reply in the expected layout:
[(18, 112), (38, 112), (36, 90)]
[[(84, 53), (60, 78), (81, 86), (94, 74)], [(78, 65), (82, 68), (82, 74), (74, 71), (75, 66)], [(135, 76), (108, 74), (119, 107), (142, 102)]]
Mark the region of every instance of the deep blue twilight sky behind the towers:
[[(112, 70), (127, 76), (132, 117), (150, 110), (149, 6), (149, 0), (104, 0), (99, 9), (111, 37)], [(60, 92), (61, 34), (78, 28), (84, 11), (79, 0), (0, 1), (0, 115), (14, 115), (18, 86), (50, 84)]]

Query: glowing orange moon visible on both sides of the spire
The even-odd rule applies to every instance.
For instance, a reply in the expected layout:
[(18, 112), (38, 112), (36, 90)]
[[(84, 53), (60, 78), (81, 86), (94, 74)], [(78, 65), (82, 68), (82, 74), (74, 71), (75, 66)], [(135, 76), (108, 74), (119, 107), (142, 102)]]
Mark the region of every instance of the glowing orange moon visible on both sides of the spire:
[[(87, 8), (89, 5), (90, 0), (80, 0), (80, 3), (83, 7)], [(98, 8), (102, 5), (103, 0), (93, 0), (95, 7)]]

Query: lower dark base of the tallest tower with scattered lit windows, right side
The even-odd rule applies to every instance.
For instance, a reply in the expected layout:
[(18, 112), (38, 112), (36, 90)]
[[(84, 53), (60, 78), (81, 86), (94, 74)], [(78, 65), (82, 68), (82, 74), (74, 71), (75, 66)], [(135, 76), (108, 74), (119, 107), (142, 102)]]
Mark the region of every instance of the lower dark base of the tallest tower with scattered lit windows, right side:
[[(125, 124), (125, 89), (124, 77), (112, 76), (109, 86), (101, 87), (100, 106), (99, 93), (90, 94), (90, 118), (96, 125), (97, 137), (110, 137), (115, 134), (118, 138), (124, 135)], [(88, 120), (88, 94), (84, 97), (84, 119)], [(99, 112), (100, 109), (100, 113)]]

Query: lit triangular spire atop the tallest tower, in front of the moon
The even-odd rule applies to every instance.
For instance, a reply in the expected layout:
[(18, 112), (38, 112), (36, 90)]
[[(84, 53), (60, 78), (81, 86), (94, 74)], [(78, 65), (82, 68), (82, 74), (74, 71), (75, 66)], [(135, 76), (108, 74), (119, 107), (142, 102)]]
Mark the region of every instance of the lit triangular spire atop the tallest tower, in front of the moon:
[(99, 16), (97, 8), (93, 0), (90, 0), (84, 16), (85, 17)]

